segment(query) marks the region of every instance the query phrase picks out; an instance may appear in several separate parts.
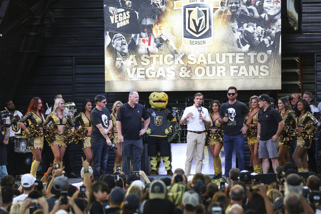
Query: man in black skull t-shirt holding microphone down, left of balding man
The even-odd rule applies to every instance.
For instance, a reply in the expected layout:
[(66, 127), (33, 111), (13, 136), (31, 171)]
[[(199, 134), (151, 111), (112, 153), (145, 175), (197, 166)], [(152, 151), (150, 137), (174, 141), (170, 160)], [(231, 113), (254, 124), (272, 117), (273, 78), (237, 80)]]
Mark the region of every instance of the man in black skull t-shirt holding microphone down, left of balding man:
[(99, 179), (100, 175), (107, 174), (107, 160), (111, 141), (108, 132), (113, 128), (113, 122), (108, 109), (106, 109), (106, 97), (97, 95), (95, 97), (96, 107), (90, 112), (92, 124), (91, 148), (93, 153), (94, 178)]

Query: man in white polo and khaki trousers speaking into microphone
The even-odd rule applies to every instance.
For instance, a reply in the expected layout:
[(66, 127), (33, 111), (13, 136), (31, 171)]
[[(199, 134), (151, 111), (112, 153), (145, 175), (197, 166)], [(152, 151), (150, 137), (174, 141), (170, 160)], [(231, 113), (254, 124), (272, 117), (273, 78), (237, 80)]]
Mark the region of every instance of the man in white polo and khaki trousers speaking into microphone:
[(187, 151), (185, 162), (185, 174), (191, 174), (192, 160), (196, 148), (196, 168), (195, 174), (201, 173), (203, 163), (203, 153), (205, 145), (205, 126), (211, 126), (211, 119), (208, 110), (201, 106), (204, 96), (201, 93), (194, 95), (194, 105), (185, 109), (181, 125), (187, 123)]

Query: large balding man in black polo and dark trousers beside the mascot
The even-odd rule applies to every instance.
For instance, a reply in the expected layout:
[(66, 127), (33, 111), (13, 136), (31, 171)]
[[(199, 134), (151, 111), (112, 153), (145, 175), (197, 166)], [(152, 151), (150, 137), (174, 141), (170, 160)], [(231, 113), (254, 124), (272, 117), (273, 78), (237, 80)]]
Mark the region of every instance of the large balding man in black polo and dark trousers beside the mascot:
[[(129, 93), (128, 103), (120, 106), (117, 113), (117, 132), (122, 145), (123, 172), (130, 175), (130, 154), (133, 157), (133, 170), (141, 169), (141, 155), (143, 148), (142, 136), (145, 134), (150, 117), (144, 106), (138, 103), (139, 95), (136, 91)], [(142, 128), (142, 118), (145, 120)]]

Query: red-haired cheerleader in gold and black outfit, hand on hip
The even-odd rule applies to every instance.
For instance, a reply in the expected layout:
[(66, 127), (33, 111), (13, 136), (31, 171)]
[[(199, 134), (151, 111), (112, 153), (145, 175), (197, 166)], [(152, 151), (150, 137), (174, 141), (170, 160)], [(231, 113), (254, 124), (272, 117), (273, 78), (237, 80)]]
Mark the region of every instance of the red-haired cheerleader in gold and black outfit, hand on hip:
[[(30, 174), (37, 177), (37, 169), (41, 161), (41, 152), (43, 149), (43, 123), (45, 110), (43, 109), (42, 99), (34, 97), (31, 99), (27, 114), (19, 120), (19, 126), (28, 134), (31, 131), (31, 125), (38, 125), (40, 128), (39, 136), (31, 136), (28, 139), (27, 147), (31, 149), (33, 161), (31, 164)], [(28, 122), (29, 128), (26, 127), (25, 122)]]

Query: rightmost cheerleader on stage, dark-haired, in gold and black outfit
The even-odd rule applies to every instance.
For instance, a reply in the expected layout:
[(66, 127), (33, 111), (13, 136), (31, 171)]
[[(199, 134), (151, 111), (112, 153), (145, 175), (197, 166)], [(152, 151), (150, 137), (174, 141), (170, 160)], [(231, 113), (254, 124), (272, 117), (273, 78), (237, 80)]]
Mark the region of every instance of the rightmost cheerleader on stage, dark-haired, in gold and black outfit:
[[(296, 106), (294, 107), (295, 115), (297, 116), (297, 126), (298, 126), (298, 142), (297, 148), (294, 150), (292, 158), (297, 165), (298, 172), (308, 172), (308, 160), (307, 160), (307, 150), (311, 147), (312, 137), (310, 139), (304, 139), (305, 136), (312, 134), (314, 129), (317, 127), (317, 119), (311, 113), (310, 106), (305, 99), (300, 99)], [(308, 130), (304, 130), (306, 125), (312, 126)], [(304, 131), (304, 132), (302, 132)], [(302, 132), (302, 133), (301, 133)], [(301, 160), (300, 160), (301, 159)], [(302, 161), (302, 162), (301, 162)]]

